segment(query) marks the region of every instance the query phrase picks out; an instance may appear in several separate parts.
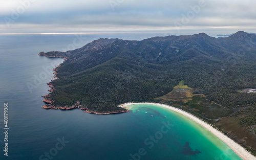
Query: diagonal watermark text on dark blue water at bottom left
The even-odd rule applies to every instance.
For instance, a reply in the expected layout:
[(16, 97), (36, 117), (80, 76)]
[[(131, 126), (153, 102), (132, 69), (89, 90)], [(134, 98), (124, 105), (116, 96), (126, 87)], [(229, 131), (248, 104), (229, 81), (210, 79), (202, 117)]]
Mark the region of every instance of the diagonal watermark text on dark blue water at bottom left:
[(45, 152), (44, 154), (40, 155), (39, 160), (53, 159), (58, 154), (58, 151), (62, 150), (66, 146), (66, 144), (69, 143), (69, 141), (65, 141), (64, 137), (62, 137), (61, 140), (57, 138), (57, 141), (58, 142), (53, 148), (50, 149), (49, 152)]

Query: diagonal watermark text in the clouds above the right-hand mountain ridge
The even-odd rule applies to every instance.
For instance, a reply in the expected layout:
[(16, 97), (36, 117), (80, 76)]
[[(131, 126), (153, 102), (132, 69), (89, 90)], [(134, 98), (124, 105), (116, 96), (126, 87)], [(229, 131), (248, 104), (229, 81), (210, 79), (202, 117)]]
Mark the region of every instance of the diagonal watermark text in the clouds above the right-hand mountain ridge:
[(189, 10), (186, 14), (183, 14), (183, 13), (181, 14), (182, 16), (181, 21), (174, 22), (176, 30), (179, 32), (182, 27), (188, 25), (190, 20), (194, 19), (196, 15), (200, 13), (201, 8), (204, 8), (206, 5), (207, 4), (204, 0), (199, 0), (197, 5), (189, 6), (191, 10)]

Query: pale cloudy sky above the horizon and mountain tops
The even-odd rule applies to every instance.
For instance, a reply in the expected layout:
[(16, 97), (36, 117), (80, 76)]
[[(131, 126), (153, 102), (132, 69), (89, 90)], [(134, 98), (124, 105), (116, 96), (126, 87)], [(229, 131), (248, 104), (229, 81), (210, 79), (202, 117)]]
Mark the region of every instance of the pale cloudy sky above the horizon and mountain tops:
[(256, 33), (254, 0), (1, 0), (0, 34)]

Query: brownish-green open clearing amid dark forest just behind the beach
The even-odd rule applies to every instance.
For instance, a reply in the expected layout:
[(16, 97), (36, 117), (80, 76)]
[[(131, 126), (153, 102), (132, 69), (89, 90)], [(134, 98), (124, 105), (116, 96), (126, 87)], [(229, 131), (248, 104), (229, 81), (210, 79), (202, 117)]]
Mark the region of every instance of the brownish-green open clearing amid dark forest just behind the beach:
[(156, 98), (161, 103), (181, 106), (184, 110), (200, 115), (208, 120), (219, 119), (221, 117), (230, 116), (234, 112), (232, 109), (226, 109), (205, 98), (205, 95), (194, 95), (197, 89), (184, 85), (184, 81), (180, 81), (172, 92)]

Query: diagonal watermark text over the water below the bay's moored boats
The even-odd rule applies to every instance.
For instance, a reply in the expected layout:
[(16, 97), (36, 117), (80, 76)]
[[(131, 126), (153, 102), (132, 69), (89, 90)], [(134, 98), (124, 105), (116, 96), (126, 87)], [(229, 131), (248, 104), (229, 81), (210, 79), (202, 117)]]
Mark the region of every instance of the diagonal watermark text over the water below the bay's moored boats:
[(154, 135), (150, 135), (148, 138), (144, 140), (144, 144), (146, 147), (142, 147), (138, 149), (137, 153), (130, 154), (131, 159), (129, 160), (140, 160), (140, 158), (147, 154), (147, 149), (152, 149), (155, 144), (157, 144), (162, 138), (163, 135), (168, 133), (168, 131), (174, 126), (169, 123), (162, 122), (163, 126), (161, 127), (160, 131), (157, 131)]

